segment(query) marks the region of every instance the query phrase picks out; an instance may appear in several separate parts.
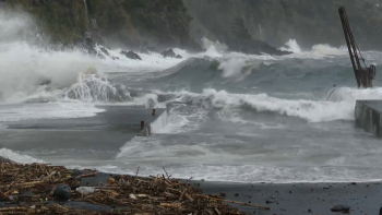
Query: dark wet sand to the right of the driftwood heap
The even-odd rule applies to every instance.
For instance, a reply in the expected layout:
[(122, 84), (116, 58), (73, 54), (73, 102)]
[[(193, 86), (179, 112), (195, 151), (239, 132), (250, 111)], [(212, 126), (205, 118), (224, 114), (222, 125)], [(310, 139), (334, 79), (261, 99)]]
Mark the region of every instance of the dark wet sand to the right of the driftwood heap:
[[(83, 178), (81, 186), (106, 183), (112, 176), (98, 174), (94, 178)], [(379, 214), (382, 201), (381, 182), (362, 183), (229, 183), (212, 181), (191, 181), (204, 194), (225, 193), (226, 200), (271, 207), (271, 211), (252, 206), (230, 204), (248, 214), (299, 215), (338, 214), (331, 212), (334, 205), (350, 206), (350, 214)], [(237, 195), (238, 194), (238, 195)], [(274, 198), (274, 199), (273, 199)], [(272, 201), (272, 203), (266, 203)], [(88, 204), (87, 204), (88, 208)], [(98, 207), (94, 207), (98, 208)], [(98, 208), (99, 210), (99, 208)], [(311, 212), (309, 212), (311, 210)]]

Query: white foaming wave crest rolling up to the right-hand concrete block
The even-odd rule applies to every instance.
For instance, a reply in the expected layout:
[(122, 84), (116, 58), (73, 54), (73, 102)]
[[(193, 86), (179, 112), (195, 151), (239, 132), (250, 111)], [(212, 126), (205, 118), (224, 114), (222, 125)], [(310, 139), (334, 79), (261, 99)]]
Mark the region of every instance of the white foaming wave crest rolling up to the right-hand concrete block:
[[(357, 92), (359, 91), (359, 93)], [(345, 94), (338, 92), (339, 96), (336, 101), (325, 100), (289, 100), (271, 97), (266, 94), (246, 95), (246, 94), (229, 94), (225, 91), (204, 89), (202, 96), (211, 99), (215, 107), (226, 106), (248, 106), (256, 111), (273, 111), (280, 115), (299, 117), (309, 122), (322, 122), (333, 120), (353, 120), (354, 119), (354, 104), (359, 97), (375, 97), (382, 96), (381, 89), (375, 89), (374, 94), (369, 94), (368, 91), (362, 89), (351, 91), (353, 97), (346, 97)], [(369, 91), (370, 92), (370, 91)]]

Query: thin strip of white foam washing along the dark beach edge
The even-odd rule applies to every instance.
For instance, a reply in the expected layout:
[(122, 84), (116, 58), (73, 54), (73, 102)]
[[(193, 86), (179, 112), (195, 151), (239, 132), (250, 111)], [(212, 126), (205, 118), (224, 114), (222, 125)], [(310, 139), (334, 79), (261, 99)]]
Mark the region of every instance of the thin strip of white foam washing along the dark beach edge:
[[(223, 155), (219, 157), (224, 158)], [(179, 158), (178, 158), (179, 159)], [(143, 164), (143, 163), (141, 163)], [(317, 183), (317, 182), (371, 182), (380, 181), (382, 178), (375, 174), (374, 168), (336, 168), (327, 167), (289, 167), (259, 165), (164, 165), (167, 172), (174, 178), (222, 182), (273, 182), (273, 183)], [(70, 165), (72, 169), (97, 169), (102, 172), (135, 175), (138, 165), (117, 163), (114, 165)], [(374, 172), (373, 172), (374, 171)], [(309, 172), (309, 174), (308, 174)], [(139, 176), (164, 174), (163, 166), (151, 166), (150, 162), (140, 166)], [(363, 175), (363, 176), (361, 176)], [(371, 179), (370, 179), (371, 178)], [(201, 182), (202, 183), (202, 182)]]

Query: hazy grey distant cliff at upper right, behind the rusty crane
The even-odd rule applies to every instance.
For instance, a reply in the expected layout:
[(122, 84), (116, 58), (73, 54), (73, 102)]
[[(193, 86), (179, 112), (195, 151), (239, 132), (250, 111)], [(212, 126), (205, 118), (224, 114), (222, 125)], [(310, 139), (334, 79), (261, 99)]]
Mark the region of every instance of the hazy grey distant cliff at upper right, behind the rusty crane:
[[(280, 47), (295, 38), (302, 48), (345, 45), (337, 9), (347, 10), (353, 33), (363, 49), (382, 49), (382, 2), (379, 0), (183, 0), (193, 17), (190, 33), (229, 47), (240, 37), (232, 25), (242, 20), (254, 39)], [(237, 39), (235, 41), (235, 38)]]

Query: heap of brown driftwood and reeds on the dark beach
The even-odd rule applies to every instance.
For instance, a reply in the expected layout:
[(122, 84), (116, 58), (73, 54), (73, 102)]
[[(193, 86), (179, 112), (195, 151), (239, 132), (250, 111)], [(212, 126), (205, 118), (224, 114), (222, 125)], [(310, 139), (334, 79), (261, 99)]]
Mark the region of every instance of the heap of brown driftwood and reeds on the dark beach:
[[(203, 195), (190, 180), (166, 175), (98, 177), (96, 171), (76, 170), (48, 164), (0, 163), (0, 214), (244, 214), (228, 203), (258, 205), (224, 200), (219, 195)], [(97, 184), (84, 182), (94, 178)], [(104, 180), (104, 181), (103, 181)], [(73, 208), (73, 203), (86, 202), (108, 208), (95, 212)], [(69, 203), (71, 207), (68, 206)]]

